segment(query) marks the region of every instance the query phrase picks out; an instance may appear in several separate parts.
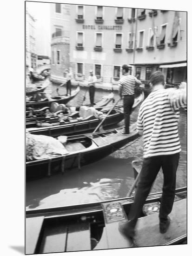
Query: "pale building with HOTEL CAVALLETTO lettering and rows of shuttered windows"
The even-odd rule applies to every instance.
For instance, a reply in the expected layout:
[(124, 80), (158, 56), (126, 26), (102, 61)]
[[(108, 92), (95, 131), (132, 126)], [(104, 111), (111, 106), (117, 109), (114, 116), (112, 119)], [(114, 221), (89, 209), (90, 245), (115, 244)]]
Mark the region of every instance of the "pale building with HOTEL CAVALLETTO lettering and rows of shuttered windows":
[(146, 84), (155, 70), (170, 85), (186, 80), (185, 12), (70, 5), (70, 13), (74, 81), (86, 84), (92, 69), (97, 86), (110, 88), (123, 64)]

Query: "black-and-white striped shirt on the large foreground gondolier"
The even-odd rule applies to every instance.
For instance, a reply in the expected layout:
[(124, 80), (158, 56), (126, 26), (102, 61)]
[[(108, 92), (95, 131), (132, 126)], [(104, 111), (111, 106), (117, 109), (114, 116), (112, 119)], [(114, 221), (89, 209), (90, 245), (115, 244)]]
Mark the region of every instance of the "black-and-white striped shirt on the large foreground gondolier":
[(143, 132), (144, 158), (172, 155), (181, 151), (179, 107), (186, 102), (186, 91), (170, 88), (153, 91), (140, 106), (137, 130)]

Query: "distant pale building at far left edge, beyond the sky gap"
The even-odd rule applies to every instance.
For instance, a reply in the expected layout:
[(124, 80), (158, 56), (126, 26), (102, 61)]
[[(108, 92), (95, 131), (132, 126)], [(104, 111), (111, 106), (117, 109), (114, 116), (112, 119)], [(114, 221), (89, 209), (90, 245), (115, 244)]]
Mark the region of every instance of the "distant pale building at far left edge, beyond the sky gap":
[(36, 68), (35, 19), (26, 9), (26, 65)]

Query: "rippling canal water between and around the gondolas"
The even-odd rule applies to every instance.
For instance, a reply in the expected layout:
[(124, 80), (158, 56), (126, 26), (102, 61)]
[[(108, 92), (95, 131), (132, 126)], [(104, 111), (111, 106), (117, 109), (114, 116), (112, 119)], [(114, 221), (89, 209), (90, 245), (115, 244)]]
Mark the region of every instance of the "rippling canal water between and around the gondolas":
[[(65, 87), (51, 84), (47, 88), (53, 96), (66, 93)], [(95, 101), (99, 101), (109, 91), (97, 89)], [(115, 101), (119, 99), (114, 92)], [(87, 88), (81, 88), (79, 94), (70, 101), (68, 106), (79, 106), (83, 102), (89, 103)], [(131, 115), (131, 122), (137, 120), (138, 108)], [(123, 121), (119, 124), (123, 125)], [(180, 153), (179, 168), (177, 171), (177, 188), (186, 186), (186, 113), (181, 111), (179, 119), (179, 136), (182, 151)], [(40, 209), (98, 202), (109, 199), (126, 197), (134, 182), (132, 160), (142, 160), (143, 138), (130, 142), (101, 161), (86, 165), (81, 170), (72, 169), (66, 173), (53, 175), (40, 180), (26, 183), (26, 209)], [(159, 192), (163, 185), (162, 171), (153, 184), (151, 192)]]

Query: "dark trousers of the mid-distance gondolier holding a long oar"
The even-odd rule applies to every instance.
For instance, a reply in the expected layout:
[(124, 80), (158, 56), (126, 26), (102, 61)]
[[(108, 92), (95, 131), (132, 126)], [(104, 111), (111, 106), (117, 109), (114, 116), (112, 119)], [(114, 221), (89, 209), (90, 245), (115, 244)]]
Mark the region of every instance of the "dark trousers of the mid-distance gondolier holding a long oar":
[(134, 103), (134, 95), (124, 95), (123, 108), (124, 108), (124, 119), (125, 119), (125, 132), (129, 134), (129, 123), (132, 105)]

